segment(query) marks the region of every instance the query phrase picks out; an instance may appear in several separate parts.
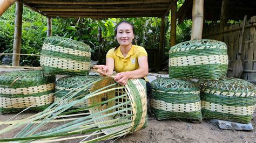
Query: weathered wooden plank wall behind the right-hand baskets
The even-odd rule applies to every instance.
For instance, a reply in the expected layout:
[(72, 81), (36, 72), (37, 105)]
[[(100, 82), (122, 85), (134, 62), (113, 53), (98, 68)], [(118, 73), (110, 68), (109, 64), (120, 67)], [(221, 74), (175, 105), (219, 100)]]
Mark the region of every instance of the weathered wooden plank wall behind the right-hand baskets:
[[(203, 31), (202, 39), (214, 39), (227, 44), (228, 77), (233, 76), (234, 62), (239, 51), (239, 39), (241, 37), (242, 24), (236, 24), (219, 29), (219, 25), (207, 26)], [(241, 76), (244, 80), (256, 82), (256, 16), (247, 20), (242, 40), (242, 66), (244, 72)]]

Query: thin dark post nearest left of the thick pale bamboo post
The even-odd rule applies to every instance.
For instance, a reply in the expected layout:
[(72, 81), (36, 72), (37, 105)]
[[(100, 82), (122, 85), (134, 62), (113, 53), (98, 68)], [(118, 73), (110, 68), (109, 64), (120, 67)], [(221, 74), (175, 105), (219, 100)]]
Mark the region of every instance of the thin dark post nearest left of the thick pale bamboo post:
[(177, 0), (172, 3), (171, 9), (171, 47), (176, 45), (176, 25), (177, 25)]

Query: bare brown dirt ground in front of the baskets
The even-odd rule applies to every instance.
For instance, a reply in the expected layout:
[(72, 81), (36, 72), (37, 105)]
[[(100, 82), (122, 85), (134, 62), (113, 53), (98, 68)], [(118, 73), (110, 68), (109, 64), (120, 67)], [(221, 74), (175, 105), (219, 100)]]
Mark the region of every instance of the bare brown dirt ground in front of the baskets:
[[(0, 115), (0, 121), (10, 119), (14, 114)], [(33, 113), (22, 113), (14, 119), (23, 119), (31, 116)], [(256, 111), (251, 121), (253, 127), (256, 127)], [(51, 128), (57, 126), (58, 123), (45, 126)], [(0, 125), (2, 130), (6, 125)], [(9, 133), (0, 134), (0, 138), (10, 138), (18, 132), (11, 131)], [(69, 140), (65, 142), (78, 142), (79, 140)], [(112, 140), (113, 141), (113, 140)], [(232, 131), (221, 130), (219, 127), (208, 123), (191, 123), (188, 120), (156, 120), (152, 116), (148, 118), (147, 128), (144, 130), (126, 135), (126, 137), (115, 140), (116, 142), (255, 142), (256, 134), (253, 131)]]

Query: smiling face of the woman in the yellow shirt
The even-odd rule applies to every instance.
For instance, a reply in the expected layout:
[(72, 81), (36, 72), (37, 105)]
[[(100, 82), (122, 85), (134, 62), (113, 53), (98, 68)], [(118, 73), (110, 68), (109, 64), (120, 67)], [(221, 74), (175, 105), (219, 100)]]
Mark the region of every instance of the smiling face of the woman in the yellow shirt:
[(120, 46), (129, 46), (134, 38), (132, 26), (127, 23), (118, 25), (116, 38)]

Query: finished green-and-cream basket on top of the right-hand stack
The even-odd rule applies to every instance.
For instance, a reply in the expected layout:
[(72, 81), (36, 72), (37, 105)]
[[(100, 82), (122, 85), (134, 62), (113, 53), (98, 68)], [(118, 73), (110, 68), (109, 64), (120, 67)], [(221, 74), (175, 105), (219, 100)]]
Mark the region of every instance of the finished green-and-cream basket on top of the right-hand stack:
[(181, 42), (169, 51), (170, 78), (217, 80), (227, 73), (227, 46), (216, 40)]

